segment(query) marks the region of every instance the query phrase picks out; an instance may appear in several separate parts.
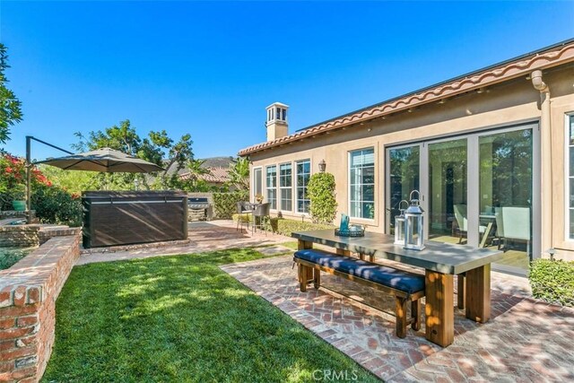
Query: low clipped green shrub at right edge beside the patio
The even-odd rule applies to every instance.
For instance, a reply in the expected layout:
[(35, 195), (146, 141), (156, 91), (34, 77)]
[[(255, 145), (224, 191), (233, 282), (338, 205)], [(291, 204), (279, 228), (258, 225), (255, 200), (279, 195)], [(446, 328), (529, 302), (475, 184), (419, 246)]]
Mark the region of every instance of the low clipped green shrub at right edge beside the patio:
[(574, 307), (574, 261), (535, 259), (528, 279), (535, 298)]

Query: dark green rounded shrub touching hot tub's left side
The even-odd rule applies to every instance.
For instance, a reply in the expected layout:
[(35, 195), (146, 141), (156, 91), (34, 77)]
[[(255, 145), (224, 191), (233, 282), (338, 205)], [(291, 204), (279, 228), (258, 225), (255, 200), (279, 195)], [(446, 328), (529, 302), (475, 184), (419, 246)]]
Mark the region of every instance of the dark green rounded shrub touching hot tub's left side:
[(72, 196), (60, 187), (35, 187), (31, 205), (40, 222), (82, 226), (81, 198)]

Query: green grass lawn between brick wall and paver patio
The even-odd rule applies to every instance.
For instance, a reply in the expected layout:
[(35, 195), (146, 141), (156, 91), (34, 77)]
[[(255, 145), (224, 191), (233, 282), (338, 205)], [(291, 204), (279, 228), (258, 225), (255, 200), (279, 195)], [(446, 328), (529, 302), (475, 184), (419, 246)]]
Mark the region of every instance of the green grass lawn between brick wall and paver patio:
[(74, 267), (43, 380), (283, 382), (346, 370), (377, 381), (218, 267), (259, 257), (235, 249)]

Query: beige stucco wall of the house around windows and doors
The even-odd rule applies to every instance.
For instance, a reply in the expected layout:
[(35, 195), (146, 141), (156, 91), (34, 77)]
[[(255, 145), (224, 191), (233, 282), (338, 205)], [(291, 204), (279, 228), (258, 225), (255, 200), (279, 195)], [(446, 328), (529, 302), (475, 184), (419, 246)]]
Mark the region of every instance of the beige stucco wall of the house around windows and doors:
[[(570, 49), (570, 50), (569, 50)], [(370, 231), (387, 231), (386, 183), (387, 148), (399, 144), (421, 142), (440, 137), (453, 137), (477, 131), (494, 130), (521, 124), (534, 129), (535, 185), (533, 189), (533, 233), (539, 246), (534, 257), (545, 256), (547, 248), (556, 248), (560, 257), (574, 259), (574, 240), (567, 239), (566, 174), (567, 135), (566, 118), (574, 113), (574, 42), (560, 51), (570, 52), (571, 59), (558, 65), (546, 65), (544, 83), (551, 92), (551, 127), (541, 132), (541, 93), (535, 90), (528, 74), (491, 83), (483, 88), (461, 92), (453, 97), (437, 98), (409, 109), (374, 118), (357, 118), (336, 129), (317, 129), (313, 135), (291, 135), (284, 144), (271, 143), (269, 147), (248, 148), (239, 154), (248, 155), (251, 170), (262, 168), (265, 195), (265, 167), (309, 159), (311, 173), (318, 171), (318, 162), (326, 161), (326, 171), (335, 175), (338, 212), (349, 211), (349, 152), (374, 148), (375, 154), (375, 214), (372, 220), (352, 218)], [(339, 118), (341, 120), (341, 118)], [(328, 123), (323, 125), (327, 125)], [(552, 142), (550, 150), (544, 139)], [(260, 145), (261, 146), (261, 145)], [(550, 163), (552, 173), (546, 174)], [(278, 169), (278, 168), (277, 168)], [(424, 171), (424, 170), (421, 170)], [(253, 174), (253, 171), (251, 171)], [(293, 171), (293, 179), (295, 173)], [(552, 182), (543, 182), (549, 176)], [(253, 182), (253, 179), (252, 179)], [(293, 184), (295, 182), (293, 181)], [(253, 190), (253, 188), (252, 188)], [(296, 209), (293, 185), (293, 211), (282, 211), (285, 217), (300, 219)], [(278, 213), (278, 211), (275, 211)], [(337, 219), (339, 215), (337, 215)], [(543, 230), (543, 228), (547, 230)], [(550, 230), (548, 230), (550, 227)]]

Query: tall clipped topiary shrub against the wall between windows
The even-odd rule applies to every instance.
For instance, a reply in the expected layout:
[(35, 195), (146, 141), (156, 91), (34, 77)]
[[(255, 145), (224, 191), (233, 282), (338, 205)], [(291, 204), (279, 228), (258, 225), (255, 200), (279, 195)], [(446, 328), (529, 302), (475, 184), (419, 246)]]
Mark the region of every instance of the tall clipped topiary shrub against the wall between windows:
[(316, 223), (330, 224), (335, 220), (337, 202), (335, 200), (335, 176), (331, 173), (315, 173), (307, 185), (311, 219)]

